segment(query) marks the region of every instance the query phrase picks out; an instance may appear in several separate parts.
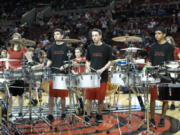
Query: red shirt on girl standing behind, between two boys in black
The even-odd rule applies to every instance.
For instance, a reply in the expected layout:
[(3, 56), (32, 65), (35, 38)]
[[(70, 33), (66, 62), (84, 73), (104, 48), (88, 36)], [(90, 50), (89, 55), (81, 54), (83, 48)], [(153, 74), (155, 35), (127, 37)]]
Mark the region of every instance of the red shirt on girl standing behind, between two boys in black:
[[(76, 58), (74, 59), (75, 62), (81, 64), (79, 67), (74, 67), (73, 70), (75, 73), (81, 74), (85, 72), (85, 58), (81, 58), (80, 60), (77, 60)], [(81, 63), (82, 62), (82, 63)]]

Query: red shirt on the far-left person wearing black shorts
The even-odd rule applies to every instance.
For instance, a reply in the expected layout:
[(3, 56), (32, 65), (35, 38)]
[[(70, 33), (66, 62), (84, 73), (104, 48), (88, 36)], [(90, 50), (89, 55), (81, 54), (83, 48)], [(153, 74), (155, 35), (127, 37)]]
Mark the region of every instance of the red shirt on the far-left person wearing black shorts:
[(20, 51), (11, 51), (8, 48), (9, 59), (19, 59), (19, 61), (10, 61), (10, 69), (19, 68), (22, 66), (23, 53), (27, 52), (27, 48), (21, 48)]

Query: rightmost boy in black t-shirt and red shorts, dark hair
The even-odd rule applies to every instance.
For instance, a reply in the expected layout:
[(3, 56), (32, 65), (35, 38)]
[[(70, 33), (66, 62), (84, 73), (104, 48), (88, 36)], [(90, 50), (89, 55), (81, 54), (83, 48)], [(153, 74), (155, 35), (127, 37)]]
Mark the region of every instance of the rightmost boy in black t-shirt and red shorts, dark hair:
[[(161, 65), (165, 61), (173, 60), (173, 47), (166, 41), (166, 30), (162, 26), (158, 26), (155, 28), (155, 39), (156, 43), (154, 43), (149, 51), (149, 60), (148, 65), (156, 66)], [(161, 79), (161, 82), (164, 82), (164, 80)], [(159, 98), (160, 96), (166, 96), (168, 95), (169, 88), (168, 87), (159, 87)], [(157, 88), (153, 87), (150, 89), (151, 94), (151, 101), (150, 101), (150, 113), (151, 113), (151, 119), (150, 124), (155, 125), (155, 100), (158, 99), (157, 95)], [(165, 125), (164, 118), (166, 115), (166, 110), (168, 107), (168, 101), (160, 99), (163, 102), (162, 105), (162, 117), (158, 123), (158, 126), (163, 127)]]

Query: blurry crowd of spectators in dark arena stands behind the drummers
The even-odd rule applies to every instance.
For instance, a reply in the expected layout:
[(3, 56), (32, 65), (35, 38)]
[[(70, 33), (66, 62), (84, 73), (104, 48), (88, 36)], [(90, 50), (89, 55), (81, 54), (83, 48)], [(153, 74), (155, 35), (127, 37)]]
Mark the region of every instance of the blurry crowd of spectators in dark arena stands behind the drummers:
[[(39, 5), (40, 3), (49, 4), (56, 11), (56, 14), (43, 18), (41, 23), (35, 20), (31, 26), (21, 24), (19, 20), (21, 15), (34, 7), (38, 7), (37, 3)], [(106, 7), (107, 5), (109, 5), (109, 9), (96, 10), (97, 7)], [(86, 11), (69, 12), (65, 15), (58, 14), (61, 10), (92, 7), (94, 8)], [(128, 2), (110, 0), (98, 2), (91, 0), (73, 0), (73, 2), (71, 0), (7, 1), (1, 5), (1, 18), (10, 20), (14, 17), (16, 21), (13, 25), (0, 28), (0, 45), (7, 46), (12, 33), (19, 32), (24, 38), (32, 39), (37, 43), (34, 48), (46, 48), (46, 45), (53, 41), (52, 31), (55, 28), (62, 28), (65, 31), (66, 38), (80, 39), (83, 47), (86, 48), (91, 42), (88, 32), (96, 27), (102, 29), (104, 41), (117, 46), (117, 49), (127, 47), (127, 45), (114, 42), (112, 38), (124, 35), (142, 37), (143, 42), (133, 44), (144, 47), (154, 41), (153, 28), (156, 25), (165, 26), (168, 34), (172, 35), (179, 43), (179, 7), (178, 0), (166, 0), (166, 2), (161, 0), (129, 0)], [(77, 44), (73, 46), (76, 47)]]

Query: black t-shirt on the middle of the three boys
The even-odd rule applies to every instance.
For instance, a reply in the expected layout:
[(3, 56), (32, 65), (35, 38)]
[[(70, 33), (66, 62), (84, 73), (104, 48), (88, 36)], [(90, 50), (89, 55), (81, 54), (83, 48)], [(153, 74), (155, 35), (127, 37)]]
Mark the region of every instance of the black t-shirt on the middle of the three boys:
[[(91, 44), (87, 48), (86, 59), (90, 61), (90, 66), (94, 69), (101, 69), (104, 67), (108, 61), (112, 60), (112, 48), (107, 44), (102, 44), (100, 46)], [(108, 80), (108, 70), (101, 74), (101, 82), (107, 82)]]

